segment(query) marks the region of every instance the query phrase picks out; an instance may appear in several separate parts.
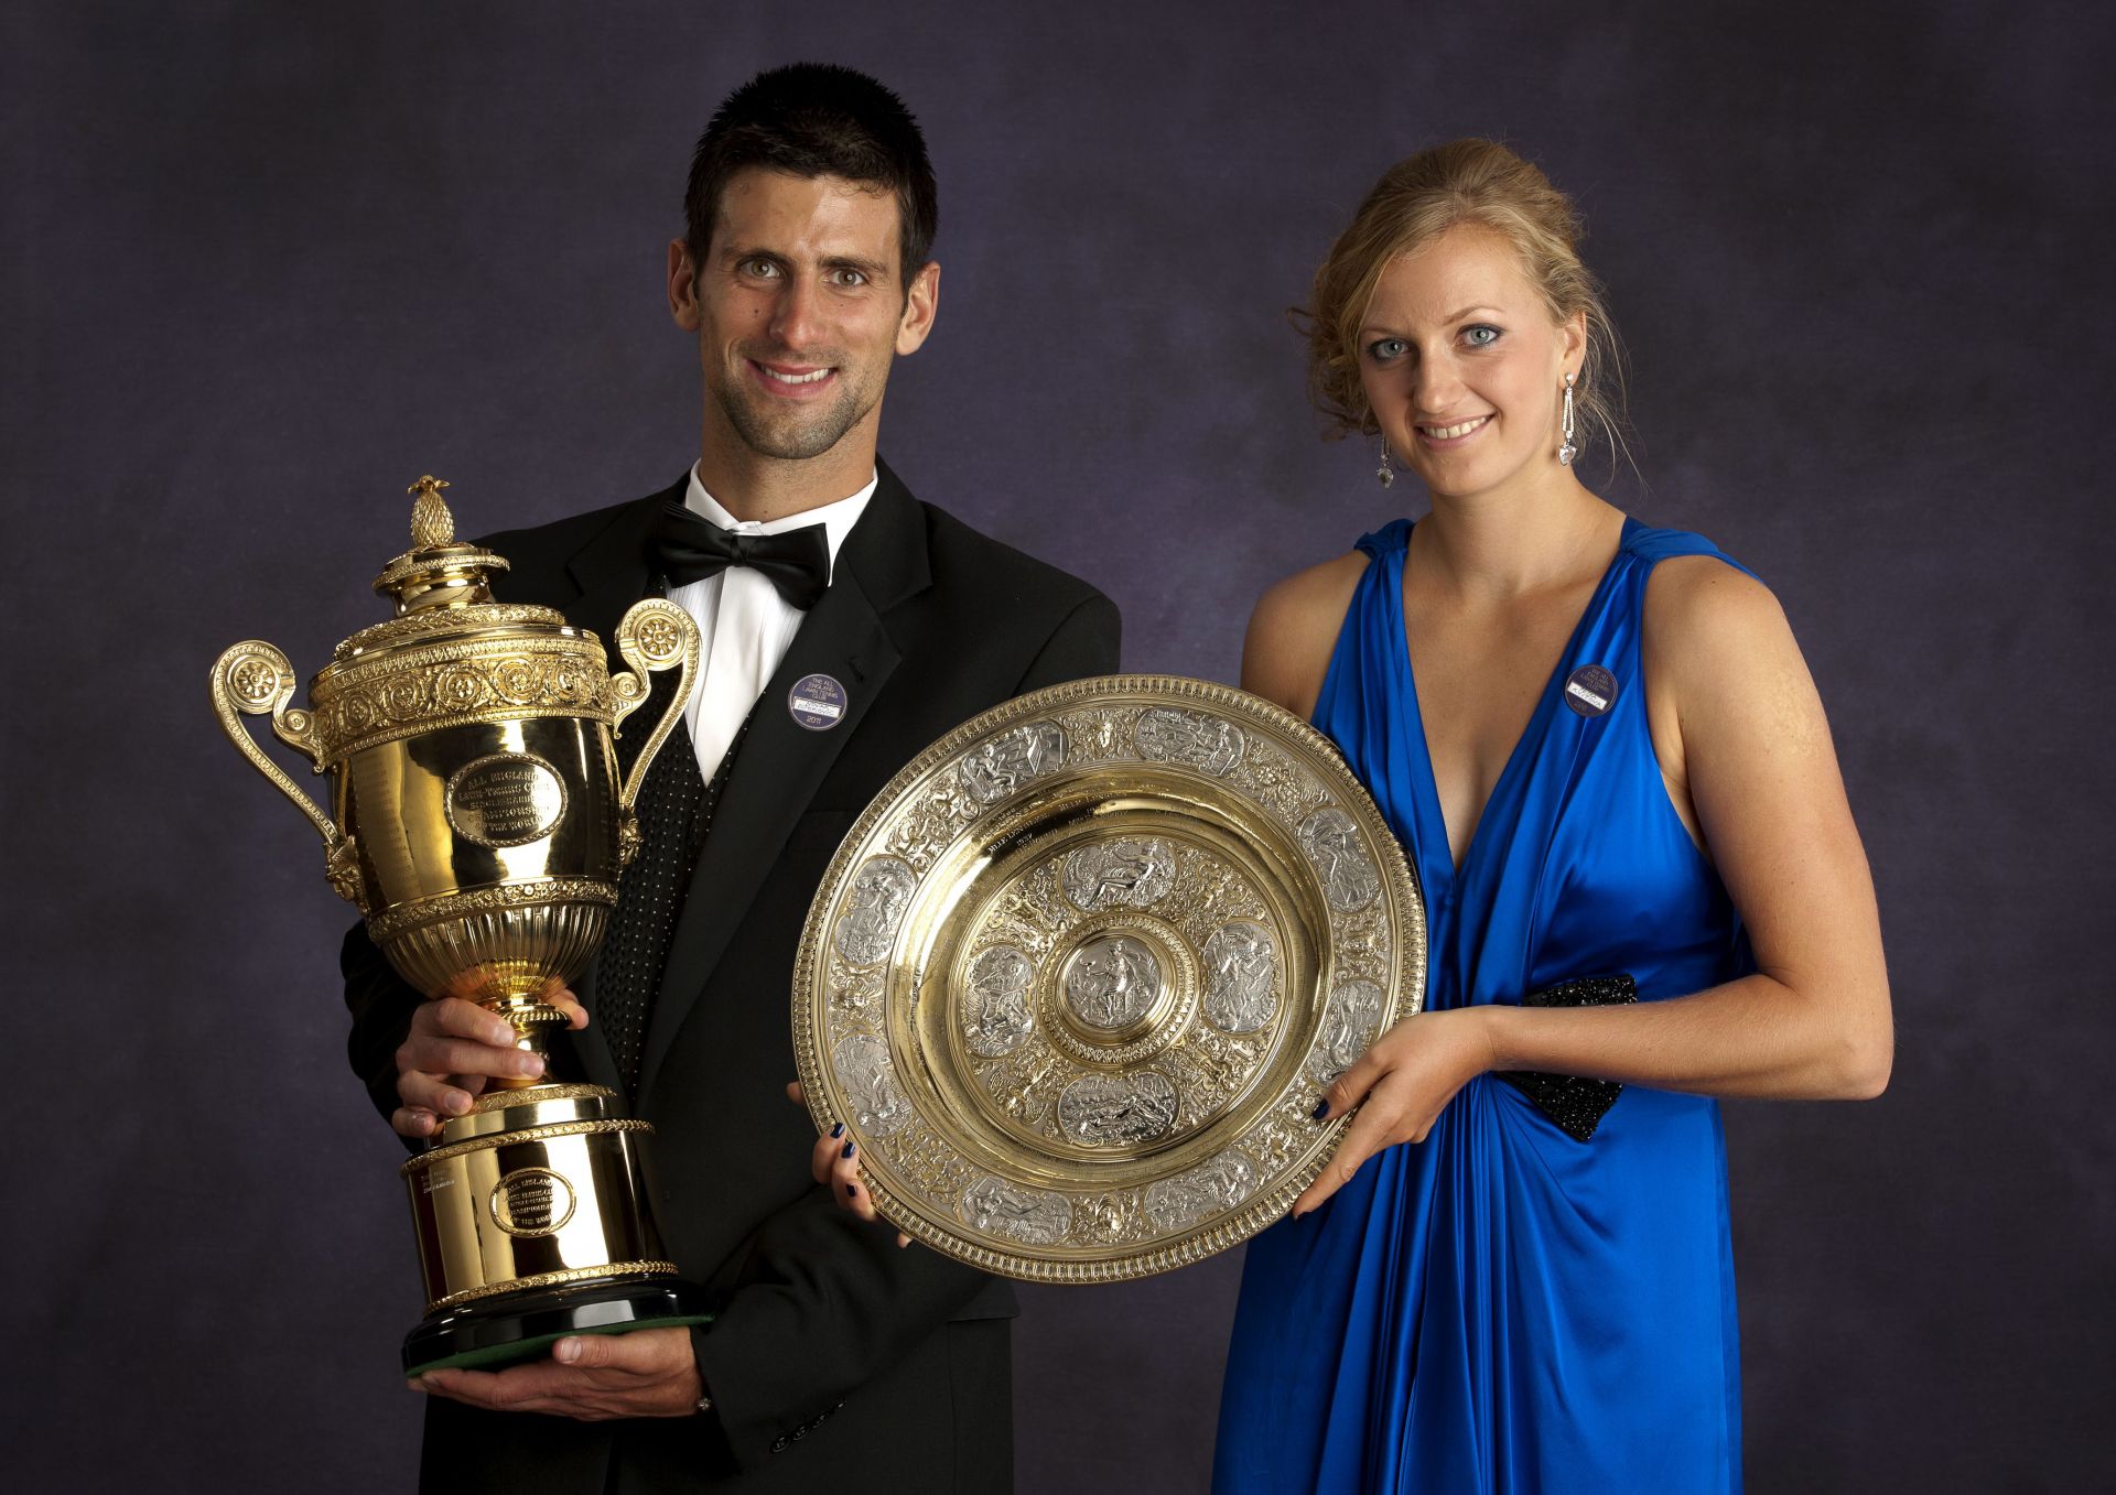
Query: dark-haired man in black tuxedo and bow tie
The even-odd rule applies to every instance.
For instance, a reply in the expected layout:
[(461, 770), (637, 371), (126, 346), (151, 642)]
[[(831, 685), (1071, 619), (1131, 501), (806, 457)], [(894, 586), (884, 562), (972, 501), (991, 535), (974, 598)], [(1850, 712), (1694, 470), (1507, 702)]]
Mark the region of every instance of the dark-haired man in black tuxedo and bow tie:
[[(933, 326), (933, 228), (925, 142), (893, 93), (821, 66), (747, 82), (698, 142), (669, 245), (705, 381), (696, 465), (489, 539), (508, 601), (607, 641), (667, 588), (703, 632), (698, 694), (641, 795), (645, 848), (559, 1047), (654, 1123), (662, 1235), (715, 1319), (425, 1377), (423, 1489), (1011, 1482), (1011, 1292), (838, 1210), (783, 1089), (800, 926), (859, 810), (978, 710), (1117, 666), (1105, 596), (916, 501), (876, 455), (891, 359)], [(406, 1138), (487, 1076), (533, 1072), (497, 1019), (421, 1000), (364, 930), (343, 964), (353, 1068)]]

